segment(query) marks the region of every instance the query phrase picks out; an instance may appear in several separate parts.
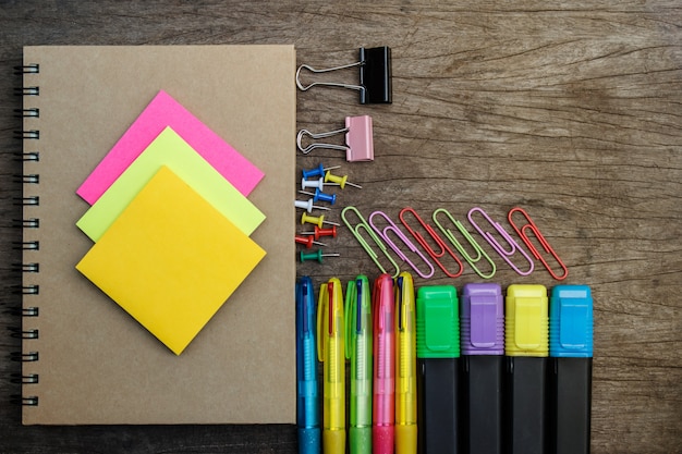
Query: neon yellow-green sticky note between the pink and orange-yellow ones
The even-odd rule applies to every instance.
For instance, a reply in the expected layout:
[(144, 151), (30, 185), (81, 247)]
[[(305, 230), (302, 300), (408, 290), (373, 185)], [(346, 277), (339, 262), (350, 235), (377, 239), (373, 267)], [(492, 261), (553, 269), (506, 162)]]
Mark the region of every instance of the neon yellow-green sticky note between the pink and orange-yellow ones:
[(90, 240), (99, 241), (161, 165), (170, 168), (245, 234), (251, 235), (265, 220), (265, 214), (255, 205), (172, 128), (167, 127), (83, 214), (76, 225)]

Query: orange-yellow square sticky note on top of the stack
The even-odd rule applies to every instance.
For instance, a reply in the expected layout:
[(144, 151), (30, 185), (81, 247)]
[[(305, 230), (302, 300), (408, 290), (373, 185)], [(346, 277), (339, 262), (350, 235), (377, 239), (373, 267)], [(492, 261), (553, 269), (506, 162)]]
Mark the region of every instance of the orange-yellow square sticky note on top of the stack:
[(265, 254), (161, 167), (76, 269), (180, 355)]

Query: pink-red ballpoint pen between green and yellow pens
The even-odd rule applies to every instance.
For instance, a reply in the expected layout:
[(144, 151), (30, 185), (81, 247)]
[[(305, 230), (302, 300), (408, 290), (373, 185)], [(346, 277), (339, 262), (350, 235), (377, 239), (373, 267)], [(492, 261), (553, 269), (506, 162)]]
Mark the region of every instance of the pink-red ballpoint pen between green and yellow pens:
[(393, 454), (395, 419), (395, 332), (393, 279), (382, 273), (374, 281), (374, 398), (372, 445), (374, 454)]

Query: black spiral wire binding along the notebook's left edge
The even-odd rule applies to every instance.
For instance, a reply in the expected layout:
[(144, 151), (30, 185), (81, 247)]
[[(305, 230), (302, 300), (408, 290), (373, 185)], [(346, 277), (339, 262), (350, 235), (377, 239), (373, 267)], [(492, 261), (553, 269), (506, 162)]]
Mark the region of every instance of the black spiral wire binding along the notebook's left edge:
[[(40, 72), (40, 66), (38, 64), (27, 64), (23, 66), (16, 66), (14, 69), (14, 73), (21, 76), (28, 75), (27, 78), (31, 77), (32, 74), (38, 74)], [(40, 87), (38, 86), (22, 86), (22, 88), (16, 89), (16, 95), (25, 97), (25, 96), (40, 96)], [(31, 118), (38, 119), (40, 118), (40, 110), (38, 108), (23, 108), (16, 109), (15, 115), (20, 118)], [(35, 144), (33, 140), (40, 139), (40, 131), (39, 130), (22, 130), (15, 133), (15, 137), (24, 142), (24, 151), (21, 155), (21, 161), (24, 165), (24, 171), (21, 175), (21, 183), (23, 184), (23, 193), (24, 196), (17, 200), (17, 204), (23, 207), (36, 207), (40, 205), (40, 199), (38, 196), (31, 193), (31, 187), (34, 184), (40, 183), (40, 175), (36, 172), (26, 172), (26, 167), (32, 167), (31, 164), (36, 163), (40, 160), (40, 154), (38, 151), (27, 151), (26, 147), (27, 142), (31, 140), (32, 145)], [(40, 226), (40, 220), (38, 218), (26, 218), (22, 216), (22, 219), (16, 222), (22, 229), (38, 229)], [(22, 241), (16, 244), (15, 247), (17, 249), (22, 249), (22, 254), (25, 250), (39, 250), (40, 243), (38, 241)], [(22, 259), (22, 261), (25, 261)], [(33, 277), (36, 277), (35, 273), (40, 272), (40, 265), (38, 262), (22, 262), (21, 263), (22, 273), (32, 273)], [(26, 275), (26, 274), (24, 274)], [(29, 297), (27, 295), (38, 295), (40, 293), (40, 285), (35, 283), (35, 279), (22, 279), (22, 285), (17, 289), (17, 293), (22, 294), (22, 309), (17, 311), (21, 317), (25, 320), (31, 319), (33, 317), (38, 317), (39, 309), (38, 307), (26, 306), (25, 299)], [(26, 283), (29, 281), (32, 283)], [(23, 323), (26, 324), (25, 322)], [(26, 345), (29, 345), (29, 342), (39, 338), (39, 332), (37, 329), (33, 328), (22, 328), (11, 330), (11, 335), (14, 338), (19, 338), (22, 340), (22, 352), (14, 352), (10, 355), (10, 358), (14, 361), (21, 363), (34, 363), (39, 359), (38, 352), (32, 351), (28, 348), (24, 351)], [(13, 375), (11, 381), (14, 383), (21, 383), (23, 385), (36, 384), (39, 381), (38, 373), (26, 373), (25, 370), (22, 373)], [(24, 395), (24, 389), (22, 389), (22, 395), (17, 396), (16, 401), (21, 405), (28, 406), (37, 406), (38, 397), (36, 395)]]

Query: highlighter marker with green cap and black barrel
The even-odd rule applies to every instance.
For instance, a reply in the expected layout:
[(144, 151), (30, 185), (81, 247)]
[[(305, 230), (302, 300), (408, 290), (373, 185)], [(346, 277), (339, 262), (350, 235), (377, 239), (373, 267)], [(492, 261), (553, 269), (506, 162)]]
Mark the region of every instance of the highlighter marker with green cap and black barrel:
[(460, 450), (460, 317), (456, 290), (417, 291), (417, 445), (422, 454)]

